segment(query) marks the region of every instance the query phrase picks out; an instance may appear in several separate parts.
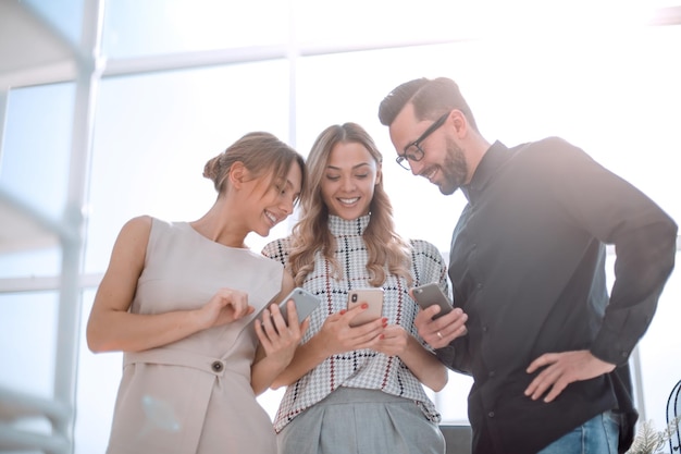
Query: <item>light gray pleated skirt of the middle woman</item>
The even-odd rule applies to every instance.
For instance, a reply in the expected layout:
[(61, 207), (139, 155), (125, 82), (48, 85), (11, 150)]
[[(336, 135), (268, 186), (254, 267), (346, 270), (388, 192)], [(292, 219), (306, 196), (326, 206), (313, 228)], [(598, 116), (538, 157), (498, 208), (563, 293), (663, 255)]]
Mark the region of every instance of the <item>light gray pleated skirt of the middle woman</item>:
[(445, 439), (413, 401), (339, 388), (276, 437), (278, 454), (444, 454)]

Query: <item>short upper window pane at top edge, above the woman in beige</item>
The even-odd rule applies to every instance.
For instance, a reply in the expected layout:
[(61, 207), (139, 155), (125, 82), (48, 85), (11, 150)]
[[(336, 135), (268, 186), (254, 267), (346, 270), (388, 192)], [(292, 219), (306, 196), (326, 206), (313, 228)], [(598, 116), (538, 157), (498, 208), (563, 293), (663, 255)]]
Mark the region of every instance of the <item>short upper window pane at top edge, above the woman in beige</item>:
[(255, 0), (111, 0), (103, 54), (131, 58), (288, 40), (288, 2)]

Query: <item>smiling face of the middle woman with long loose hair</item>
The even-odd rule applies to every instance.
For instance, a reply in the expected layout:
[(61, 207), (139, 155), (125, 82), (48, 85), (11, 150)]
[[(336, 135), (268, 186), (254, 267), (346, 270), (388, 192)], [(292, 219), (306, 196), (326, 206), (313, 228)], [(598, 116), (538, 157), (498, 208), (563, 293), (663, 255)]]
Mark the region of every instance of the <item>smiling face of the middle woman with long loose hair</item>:
[(377, 162), (361, 144), (336, 144), (321, 181), (322, 199), (329, 212), (345, 220), (368, 214), (380, 177)]

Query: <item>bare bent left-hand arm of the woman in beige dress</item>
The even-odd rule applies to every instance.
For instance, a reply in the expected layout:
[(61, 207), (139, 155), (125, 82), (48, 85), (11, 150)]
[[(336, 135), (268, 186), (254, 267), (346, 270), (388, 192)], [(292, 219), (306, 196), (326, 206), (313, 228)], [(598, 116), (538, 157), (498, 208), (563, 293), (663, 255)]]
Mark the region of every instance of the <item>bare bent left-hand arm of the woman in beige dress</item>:
[(128, 312), (145, 267), (150, 231), (151, 218), (139, 217), (128, 221), (116, 238), (87, 323), (87, 343), (92, 352), (139, 352), (166, 345), (253, 310), (245, 293), (221, 289), (200, 309)]

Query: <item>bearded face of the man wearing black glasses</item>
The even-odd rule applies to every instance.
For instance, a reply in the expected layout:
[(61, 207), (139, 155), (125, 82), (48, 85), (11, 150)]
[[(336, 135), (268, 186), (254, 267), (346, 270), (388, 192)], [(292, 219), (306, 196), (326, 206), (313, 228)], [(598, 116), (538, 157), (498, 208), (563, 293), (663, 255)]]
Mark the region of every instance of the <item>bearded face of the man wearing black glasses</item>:
[[(465, 150), (457, 143), (456, 135), (451, 134), (455, 122), (460, 120), (459, 115), (459, 111), (451, 111), (441, 127), (420, 142), (419, 146), (423, 150), (420, 160), (408, 159), (411, 173), (428, 179), (445, 195), (453, 194), (469, 180)], [(412, 105), (405, 106), (389, 126), (397, 155), (404, 155), (405, 149), (432, 124), (432, 120), (417, 120)]]

